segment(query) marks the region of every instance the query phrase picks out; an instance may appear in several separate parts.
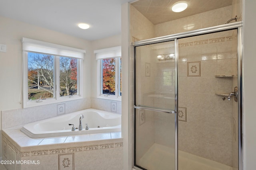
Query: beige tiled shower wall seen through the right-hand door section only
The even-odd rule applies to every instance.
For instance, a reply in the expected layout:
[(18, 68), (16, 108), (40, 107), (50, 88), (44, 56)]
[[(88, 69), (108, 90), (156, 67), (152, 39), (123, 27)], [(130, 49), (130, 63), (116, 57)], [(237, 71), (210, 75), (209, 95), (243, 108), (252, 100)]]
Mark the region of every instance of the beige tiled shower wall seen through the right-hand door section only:
[[(190, 62), (200, 63), (196, 71), (200, 71), (200, 76), (189, 76)], [(179, 107), (186, 107), (187, 111), (187, 121), (179, 121), (178, 125), (179, 150), (229, 166), (236, 164), (232, 162), (232, 144), (236, 138), (234, 100), (228, 101), (225, 95), (234, 89), (236, 62), (236, 31), (179, 40), (178, 99)]]

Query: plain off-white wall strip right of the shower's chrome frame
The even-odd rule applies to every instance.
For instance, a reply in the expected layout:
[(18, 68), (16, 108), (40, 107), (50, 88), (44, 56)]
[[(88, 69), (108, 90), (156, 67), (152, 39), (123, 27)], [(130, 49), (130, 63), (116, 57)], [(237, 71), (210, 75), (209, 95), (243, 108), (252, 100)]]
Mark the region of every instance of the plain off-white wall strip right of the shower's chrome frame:
[(244, 170), (256, 167), (256, 1), (244, 0), (243, 60), (244, 60)]

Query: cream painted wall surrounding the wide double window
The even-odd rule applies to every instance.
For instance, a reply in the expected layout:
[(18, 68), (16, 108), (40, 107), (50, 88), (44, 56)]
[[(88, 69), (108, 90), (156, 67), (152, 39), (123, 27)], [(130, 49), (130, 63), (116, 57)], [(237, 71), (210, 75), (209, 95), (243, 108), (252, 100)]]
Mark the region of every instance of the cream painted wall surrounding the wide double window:
[[(88, 80), (90, 80), (91, 76), (90, 59), (93, 53), (90, 41), (0, 16), (0, 44), (7, 45), (7, 52), (0, 52), (0, 89), (2, 96), (0, 98), (0, 111), (12, 109), (12, 113), (21, 112), (18, 110), (22, 108), (22, 93), (20, 92), (22, 90), (22, 37), (86, 50), (83, 90), (84, 98), (88, 98), (88, 100), (86, 100), (86, 103), (78, 103), (80, 105), (81, 103), (84, 104), (85, 107), (90, 107), (91, 83)], [(70, 102), (69, 104), (76, 105), (76, 102)], [(2, 129), (1, 122), (0, 129)], [(0, 146), (2, 145), (0, 144)], [(2, 155), (1, 151), (0, 156)]]

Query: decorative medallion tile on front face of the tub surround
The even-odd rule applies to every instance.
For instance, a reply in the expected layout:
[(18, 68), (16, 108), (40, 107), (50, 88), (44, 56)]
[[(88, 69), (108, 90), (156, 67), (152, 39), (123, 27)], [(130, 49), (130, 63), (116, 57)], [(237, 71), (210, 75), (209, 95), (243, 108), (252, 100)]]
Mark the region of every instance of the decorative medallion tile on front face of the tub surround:
[(59, 170), (74, 170), (74, 153), (58, 155)]

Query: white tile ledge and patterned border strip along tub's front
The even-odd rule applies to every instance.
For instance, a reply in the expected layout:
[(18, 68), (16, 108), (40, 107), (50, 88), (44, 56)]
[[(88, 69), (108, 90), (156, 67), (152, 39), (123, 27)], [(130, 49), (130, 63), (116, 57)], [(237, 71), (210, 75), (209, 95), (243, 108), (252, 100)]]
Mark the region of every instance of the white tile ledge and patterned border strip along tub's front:
[[(31, 156), (31, 153), (33, 155), (42, 154), (42, 152), (44, 154), (66, 153), (67, 150), (74, 150), (78, 147), (79, 149), (82, 148), (82, 150), (87, 150), (86, 148), (88, 147), (90, 150), (99, 149), (99, 147), (105, 148), (106, 146), (110, 148), (119, 147), (117, 145), (123, 141), (120, 137), (120, 132), (113, 132), (112, 134), (109, 132), (49, 138), (30, 138), (26, 135), (23, 136), (19, 128), (21, 127), (2, 129), (2, 136), (3, 140), (8, 141), (22, 157)], [(74, 145), (74, 143), (76, 144)]]

